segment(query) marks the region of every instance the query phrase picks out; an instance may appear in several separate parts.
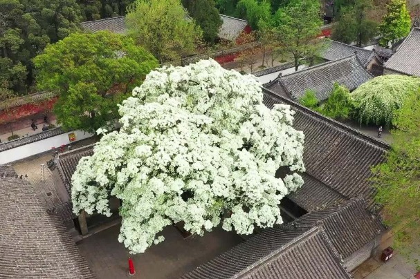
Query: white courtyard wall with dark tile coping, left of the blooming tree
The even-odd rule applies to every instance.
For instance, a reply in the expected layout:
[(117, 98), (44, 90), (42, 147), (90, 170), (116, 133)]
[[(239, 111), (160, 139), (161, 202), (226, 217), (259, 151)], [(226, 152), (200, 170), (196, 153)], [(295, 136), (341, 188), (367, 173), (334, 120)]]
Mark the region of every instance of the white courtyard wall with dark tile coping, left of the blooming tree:
[[(60, 129), (60, 128), (58, 128)], [(14, 143), (15, 147), (12, 148), (4, 148), (6, 150), (3, 149), (3, 151), (0, 152), (0, 164), (8, 164), (10, 162), (14, 162), (17, 160), (21, 160), (24, 159), (26, 157), (30, 157), (33, 155), (37, 155), (39, 153), (43, 153), (45, 151), (49, 151), (51, 150), (53, 147), (58, 148), (60, 146), (62, 146), (63, 144), (70, 144), (70, 140), (69, 140), (69, 134), (70, 133), (75, 133), (75, 141), (73, 142), (77, 142), (79, 140), (84, 140), (87, 139), (88, 137), (92, 137), (93, 134), (90, 133), (85, 133), (83, 131), (75, 131), (75, 132), (68, 132), (68, 133), (64, 133), (64, 131), (57, 130), (57, 132), (60, 133), (56, 133), (56, 135), (50, 136), (50, 137), (46, 137), (44, 139), (42, 139), (42, 134), (43, 133), (48, 133), (50, 131), (46, 131), (43, 133), (39, 133), (37, 134), (37, 139), (34, 139), (34, 141), (30, 141), (27, 144), (19, 144), (19, 140), (23, 140), (23, 139), (19, 139), (16, 141), (12, 141), (9, 143), (5, 143), (6, 144), (11, 144)], [(41, 137), (39, 137), (41, 136)], [(46, 135), (48, 136), (48, 135)], [(30, 139), (28, 139), (30, 140)], [(2, 147), (2, 146), (0, 146)], [(6, 146), (4, 146), (6, 147)], [(1, 148), (0, 148), (1, 150)]]

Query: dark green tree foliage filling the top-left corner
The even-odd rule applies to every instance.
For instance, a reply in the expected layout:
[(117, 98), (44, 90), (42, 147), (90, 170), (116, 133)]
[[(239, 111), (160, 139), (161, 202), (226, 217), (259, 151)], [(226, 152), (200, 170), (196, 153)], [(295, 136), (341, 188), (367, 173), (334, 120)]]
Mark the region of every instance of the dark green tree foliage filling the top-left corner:
[(80, 8), (75, 0), (0, 2), (0, 76), (23, 91), (33, 81), (31, 59), (77, 30)]

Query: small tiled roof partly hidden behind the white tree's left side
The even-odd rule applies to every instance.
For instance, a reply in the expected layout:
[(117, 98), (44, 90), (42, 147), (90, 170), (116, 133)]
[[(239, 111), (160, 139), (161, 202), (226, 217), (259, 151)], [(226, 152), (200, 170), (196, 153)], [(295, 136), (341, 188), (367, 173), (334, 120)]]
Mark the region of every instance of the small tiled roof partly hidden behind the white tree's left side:
[(71, 177), (76, 171), (77, 164), (82, 157), (93, 155), (93, 146), (95, 146), (95, 144), (83, 146), (72, 151), (61, 153), (55, 158), (55, 164), (57, 164), (57, 169), (69, 195), (71, 193)]

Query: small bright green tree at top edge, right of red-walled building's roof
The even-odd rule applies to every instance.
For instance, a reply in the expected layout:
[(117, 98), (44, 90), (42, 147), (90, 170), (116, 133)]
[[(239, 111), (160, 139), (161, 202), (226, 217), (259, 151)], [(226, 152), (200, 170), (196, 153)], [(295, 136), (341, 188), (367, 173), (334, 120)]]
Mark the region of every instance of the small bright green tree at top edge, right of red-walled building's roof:
[(259, 21), (268, 21), (271, 17), (271, 4), (267, 0), (241, 0), (237, 9), (253, 29), (258, 28)]

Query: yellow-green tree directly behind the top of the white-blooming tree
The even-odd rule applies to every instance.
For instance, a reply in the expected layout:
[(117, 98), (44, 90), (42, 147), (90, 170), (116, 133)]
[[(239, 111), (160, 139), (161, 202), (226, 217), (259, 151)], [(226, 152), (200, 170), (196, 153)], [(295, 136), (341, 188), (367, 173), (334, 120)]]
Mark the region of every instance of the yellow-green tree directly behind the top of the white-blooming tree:
[(201, 39), (181, 0), (136, 0), (127, 12), (129, 35), (161, 63), (192, 54)]

